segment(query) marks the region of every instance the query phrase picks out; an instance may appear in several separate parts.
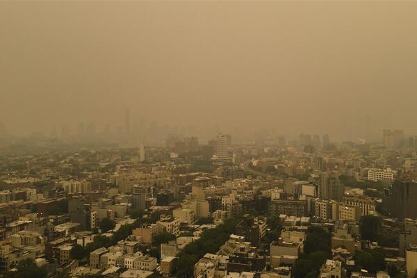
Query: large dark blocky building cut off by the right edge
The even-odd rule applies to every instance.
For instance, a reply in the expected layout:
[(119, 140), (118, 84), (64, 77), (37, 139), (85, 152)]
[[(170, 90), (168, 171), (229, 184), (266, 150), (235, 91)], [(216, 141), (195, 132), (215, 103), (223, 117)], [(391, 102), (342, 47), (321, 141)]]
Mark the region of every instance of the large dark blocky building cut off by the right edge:
[(417, 183), (395, 181), (389, 194), (389, 212), (402, 221), (404, 218), (417, 218)]

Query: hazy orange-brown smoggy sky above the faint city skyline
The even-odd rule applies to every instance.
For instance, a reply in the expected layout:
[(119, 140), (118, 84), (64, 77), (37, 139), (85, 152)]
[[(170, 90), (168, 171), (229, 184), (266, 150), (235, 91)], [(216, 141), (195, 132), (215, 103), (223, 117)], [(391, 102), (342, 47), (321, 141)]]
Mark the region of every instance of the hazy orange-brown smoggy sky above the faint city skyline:
[(1, 1), (0, 122), (417, 133), (417, 1)]

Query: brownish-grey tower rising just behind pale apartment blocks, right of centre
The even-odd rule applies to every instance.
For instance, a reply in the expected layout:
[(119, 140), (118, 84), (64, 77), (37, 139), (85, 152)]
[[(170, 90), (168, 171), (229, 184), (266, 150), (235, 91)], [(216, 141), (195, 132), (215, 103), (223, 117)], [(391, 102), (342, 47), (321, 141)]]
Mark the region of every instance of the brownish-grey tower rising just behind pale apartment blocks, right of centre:
[(320, 183), (320, 198), (341, 201), (345, 189), (335, 171), (322, 172)]

